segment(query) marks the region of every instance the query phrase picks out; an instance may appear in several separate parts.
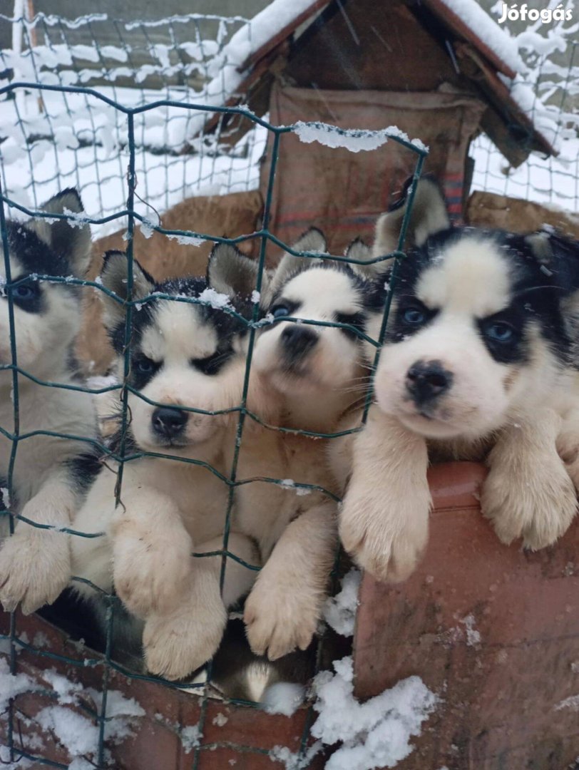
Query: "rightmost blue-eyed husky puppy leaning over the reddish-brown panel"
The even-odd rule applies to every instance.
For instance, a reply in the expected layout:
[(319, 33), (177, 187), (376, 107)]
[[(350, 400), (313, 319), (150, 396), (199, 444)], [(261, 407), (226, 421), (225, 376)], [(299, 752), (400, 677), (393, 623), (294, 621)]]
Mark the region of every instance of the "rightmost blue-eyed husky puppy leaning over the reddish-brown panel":
[[(397, 247), (406, 207), (378, 219), (374, 256)], [(427, 542), (429, 454), (486, 461), (480, 504), (504, 543), (554, 543), (577, 507), (556, 448), (574, 398), (562, 299), (579, 286), (577, 260), (548, 234), (451, 229), (430, 179), (418, 183), (409, 234), (340, 515), (346, 551), (393, 581)]]

